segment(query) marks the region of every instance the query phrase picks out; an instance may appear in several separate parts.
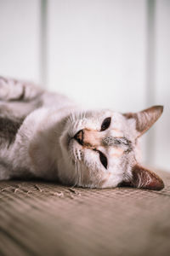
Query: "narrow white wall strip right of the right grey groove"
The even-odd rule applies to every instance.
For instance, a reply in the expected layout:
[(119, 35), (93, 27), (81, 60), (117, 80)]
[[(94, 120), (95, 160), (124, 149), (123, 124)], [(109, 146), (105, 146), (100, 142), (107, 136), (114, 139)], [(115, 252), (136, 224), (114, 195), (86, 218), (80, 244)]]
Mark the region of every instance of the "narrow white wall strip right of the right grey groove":
[(156, 1), (155, 103), (164, 113), (155, 129), (154, 163), (170, 170), (170, 1)]

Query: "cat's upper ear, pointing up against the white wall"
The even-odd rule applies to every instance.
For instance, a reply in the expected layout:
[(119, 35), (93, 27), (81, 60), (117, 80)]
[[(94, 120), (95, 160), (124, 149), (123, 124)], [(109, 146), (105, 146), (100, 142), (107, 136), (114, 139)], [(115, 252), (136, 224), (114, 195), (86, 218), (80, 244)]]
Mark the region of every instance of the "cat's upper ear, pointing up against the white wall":
[(136, 120), (136, 130), (139, 131), (139, 137), (144, 134), (145, 131), (156, 122), (163, 112), (163, 106), (153, 106), (151, 108), (144, 109), (139, 113), (124, 113), (123, 115), (127, 119)]

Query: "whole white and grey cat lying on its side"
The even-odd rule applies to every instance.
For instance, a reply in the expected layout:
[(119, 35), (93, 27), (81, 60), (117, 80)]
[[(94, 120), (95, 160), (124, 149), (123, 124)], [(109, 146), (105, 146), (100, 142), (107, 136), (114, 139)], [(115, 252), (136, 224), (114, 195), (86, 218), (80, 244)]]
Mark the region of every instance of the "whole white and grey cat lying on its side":
[(139, 137), (162, 106), (83, 110), (66, 96), (0, 78), (0, 180), (37, 177), (83, 188), (163, 189), (139, 163)]

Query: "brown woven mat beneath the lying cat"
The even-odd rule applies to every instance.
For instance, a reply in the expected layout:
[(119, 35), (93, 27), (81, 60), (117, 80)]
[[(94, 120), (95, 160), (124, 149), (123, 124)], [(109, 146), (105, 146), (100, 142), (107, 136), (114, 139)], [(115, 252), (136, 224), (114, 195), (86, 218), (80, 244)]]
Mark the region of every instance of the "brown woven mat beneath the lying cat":
[(170, 173), (161, 191), (0, 183), (0, 255), (170, 255)]

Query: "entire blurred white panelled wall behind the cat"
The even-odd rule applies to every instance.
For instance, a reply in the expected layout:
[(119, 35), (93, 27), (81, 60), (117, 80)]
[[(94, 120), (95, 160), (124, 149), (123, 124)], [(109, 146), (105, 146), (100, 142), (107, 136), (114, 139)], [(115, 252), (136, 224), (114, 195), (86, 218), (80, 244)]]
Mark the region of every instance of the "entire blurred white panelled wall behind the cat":
[(0, 0), (0, 75), (90, 108), (164, 105), (144, 162), (170, 171), (170, 0)]

